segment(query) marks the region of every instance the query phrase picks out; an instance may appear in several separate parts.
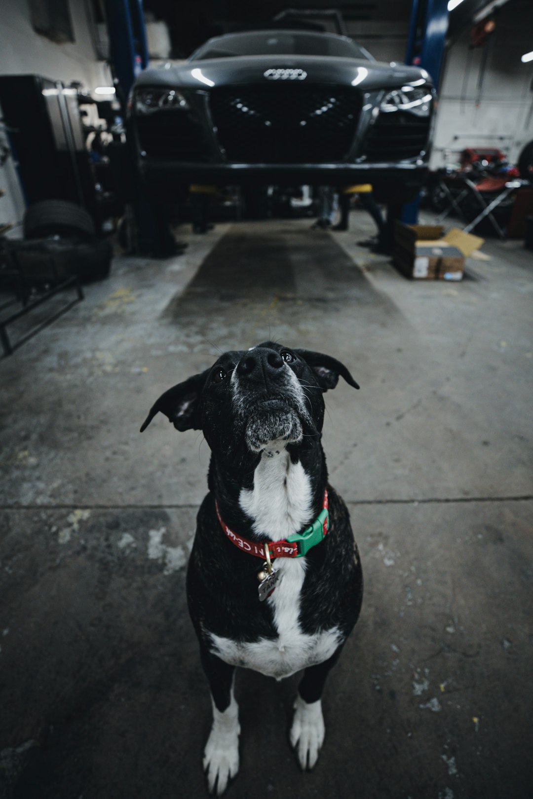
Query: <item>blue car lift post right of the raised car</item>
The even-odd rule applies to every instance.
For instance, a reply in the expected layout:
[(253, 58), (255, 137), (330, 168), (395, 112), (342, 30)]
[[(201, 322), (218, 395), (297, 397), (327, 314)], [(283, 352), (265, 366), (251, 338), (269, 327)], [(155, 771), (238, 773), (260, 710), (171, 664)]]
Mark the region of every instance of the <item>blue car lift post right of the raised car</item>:
[[(405, 63), (426, 70), (436, 89), (439, 88), (447, 23), (447, 0), (412, 0)], [(420, 195), (408, 205), (403, 205), (396, 218), (400, 218), (407, 225), (415, 225), (418, 221), (419, 205)]]

